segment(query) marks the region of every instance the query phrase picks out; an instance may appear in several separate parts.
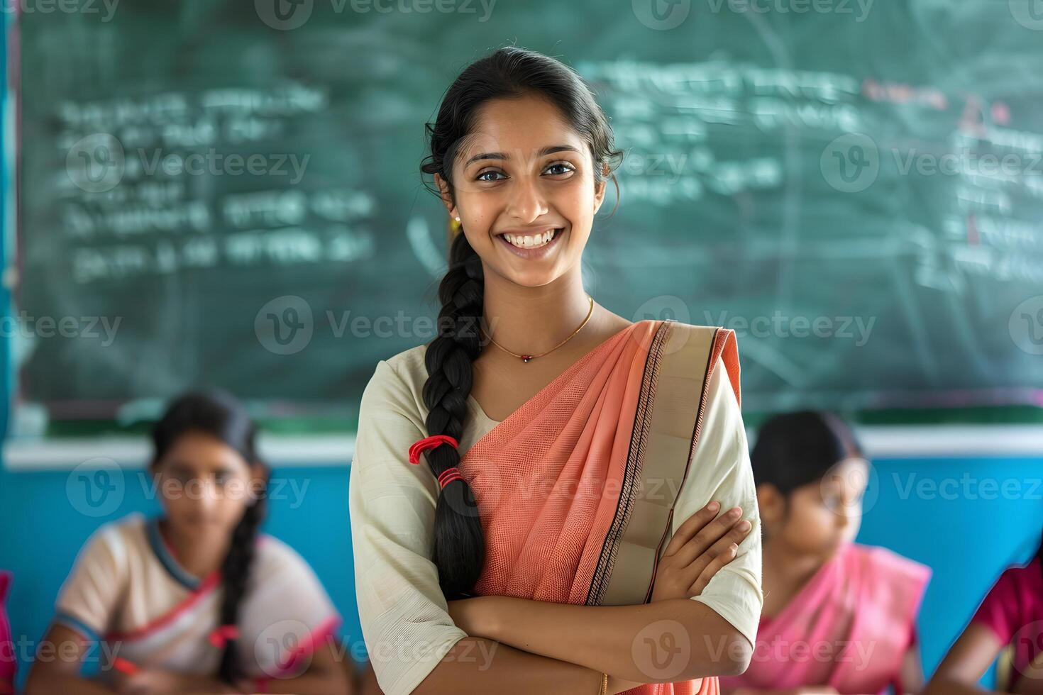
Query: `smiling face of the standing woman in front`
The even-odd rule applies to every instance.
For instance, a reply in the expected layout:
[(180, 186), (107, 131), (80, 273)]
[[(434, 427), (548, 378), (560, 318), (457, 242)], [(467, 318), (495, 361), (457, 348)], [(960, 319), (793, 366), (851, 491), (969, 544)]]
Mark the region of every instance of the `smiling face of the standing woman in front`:
[[(453, 162), (453, 196), (435, 175), (452, 217), (490, 274), (539, 287), (579, 268), (601, 207), (605, 182), (596, 184), (589, 146), (537, 96), (483, 104), (476, 129)], [(542, 251), (516, 253), (505, 232), (530, 237), (557, 230)]]

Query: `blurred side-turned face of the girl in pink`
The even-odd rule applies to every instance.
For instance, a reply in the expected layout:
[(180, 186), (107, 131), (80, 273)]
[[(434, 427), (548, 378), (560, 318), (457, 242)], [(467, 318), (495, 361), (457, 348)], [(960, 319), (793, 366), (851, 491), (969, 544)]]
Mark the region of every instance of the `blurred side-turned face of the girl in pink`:
[[(791, 492), (784, 506), (773, 508), (770, 518), (765, 518), (762, 510), (761, 520), (771, 542), (779, 539), (796, 552), (828, 556), (842, 543), (853, 541), (862, 522), (868, 473), (865, 458), (845, 458), (821, 480)], [(775, 506), (774, 502), (769, 504)]]

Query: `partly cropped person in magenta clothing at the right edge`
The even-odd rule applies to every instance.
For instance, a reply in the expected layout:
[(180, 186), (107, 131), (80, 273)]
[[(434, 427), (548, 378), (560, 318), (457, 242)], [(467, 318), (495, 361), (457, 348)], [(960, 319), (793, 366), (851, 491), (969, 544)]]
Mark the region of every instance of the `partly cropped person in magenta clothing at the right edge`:
[(929, 695), (985, 692), (978, 680), (996, 657), (996, 691), (1043, 693), (1043, 544), (1024, 567), (1012, 567), (996, 584), (949, 649), (930, 682)]

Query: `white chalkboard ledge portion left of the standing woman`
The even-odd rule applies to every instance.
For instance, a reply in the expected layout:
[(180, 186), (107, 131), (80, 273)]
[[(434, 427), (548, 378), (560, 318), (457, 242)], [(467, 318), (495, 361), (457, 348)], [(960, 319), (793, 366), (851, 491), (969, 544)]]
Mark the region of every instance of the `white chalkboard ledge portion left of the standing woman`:
[[(354, 435), (258, 436), (262, 458), (271, 466), (347, 466), (355, 452)], [(144, 468), (151, 454), (145, 437), (81, 437), (63, 440), (10, 439), (3, 445), (9, 471), (70, 470), (91, 458), (123, 468)]]

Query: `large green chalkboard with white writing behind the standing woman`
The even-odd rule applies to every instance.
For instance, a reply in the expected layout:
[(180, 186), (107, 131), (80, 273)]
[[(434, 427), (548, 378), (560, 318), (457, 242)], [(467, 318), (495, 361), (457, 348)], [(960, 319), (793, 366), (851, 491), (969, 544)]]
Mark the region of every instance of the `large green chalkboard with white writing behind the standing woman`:
[(511, 43), (587, 78), (627, 151), (588, 290), (735, 328), (744, 409), (1043, 402), (1029, 2), (74, 8), (13, 42), (17, 397), (48, 431), (193, 386), (350, 429), (375, 362), (433, 334), (423, 124)]

